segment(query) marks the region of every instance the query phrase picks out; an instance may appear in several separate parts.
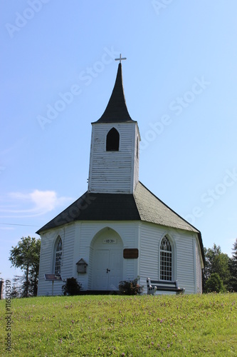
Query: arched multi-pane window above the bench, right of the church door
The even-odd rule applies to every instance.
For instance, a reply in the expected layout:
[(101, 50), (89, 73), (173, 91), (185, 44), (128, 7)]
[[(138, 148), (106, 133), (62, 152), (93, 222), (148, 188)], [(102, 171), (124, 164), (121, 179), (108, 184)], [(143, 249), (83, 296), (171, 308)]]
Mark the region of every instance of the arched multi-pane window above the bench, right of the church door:
[(160, 244), (159, 278), (172, 281), (172, 246), (167, 236)]

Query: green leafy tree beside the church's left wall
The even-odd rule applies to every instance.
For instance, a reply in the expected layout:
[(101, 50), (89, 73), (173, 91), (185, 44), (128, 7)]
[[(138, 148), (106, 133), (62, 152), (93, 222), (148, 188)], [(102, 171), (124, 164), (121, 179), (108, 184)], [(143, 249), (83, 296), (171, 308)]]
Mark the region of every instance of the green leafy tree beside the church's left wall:
[(36, 296), (41, 240), (29, 236), (22, 237), (17, 246), (11, 248), (9, 261), (12, 266), (23, 271), (21, 296)]

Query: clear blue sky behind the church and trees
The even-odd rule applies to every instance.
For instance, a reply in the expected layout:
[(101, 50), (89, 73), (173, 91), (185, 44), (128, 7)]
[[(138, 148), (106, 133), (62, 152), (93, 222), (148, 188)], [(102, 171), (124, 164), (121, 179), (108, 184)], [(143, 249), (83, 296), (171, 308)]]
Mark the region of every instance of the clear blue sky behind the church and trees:
[(236, 0), (1, 1), (2, 277), (21, 273), (10, 268), (11, 246), (87, 190), (90, 123), (110, 99), (120, 52), (142, 136), (140, 181), (206, 248), (231, 256), (236, 14)]

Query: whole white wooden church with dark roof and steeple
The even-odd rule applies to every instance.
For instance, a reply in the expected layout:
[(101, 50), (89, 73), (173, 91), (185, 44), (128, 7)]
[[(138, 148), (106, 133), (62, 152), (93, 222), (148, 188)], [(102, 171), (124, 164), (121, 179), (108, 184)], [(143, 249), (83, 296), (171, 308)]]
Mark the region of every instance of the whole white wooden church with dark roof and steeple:
[[(185, 293), (202, 292), (201, 233), (139, 181), (139, 141), (120, 56), (110, 101), (92, 123), (88, 191), (36, 232), (38, 296), (52, 294), (50, 273), (77, 278), (83, 291), (117, 291), (120, 281), (139, 276), (142, 286), (147, 278), (177, 280)], [(62, 294), (63, 281), (54, 283), (53, 295)]]

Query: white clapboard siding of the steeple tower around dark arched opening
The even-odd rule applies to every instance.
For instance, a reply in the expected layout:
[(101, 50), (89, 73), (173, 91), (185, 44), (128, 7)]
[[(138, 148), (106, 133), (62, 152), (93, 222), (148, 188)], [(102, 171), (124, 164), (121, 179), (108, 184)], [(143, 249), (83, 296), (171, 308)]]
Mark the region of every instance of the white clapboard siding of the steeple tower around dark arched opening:
[[(106, 151), (106, 136), (112, 128), (117, 129), (120, 134), (119, 151)], [(135, 122), (93, 124), (89, 192), (132, 193), (134, 191), (138, 181), (138, 159), (135, 160), (137, 132)]]

